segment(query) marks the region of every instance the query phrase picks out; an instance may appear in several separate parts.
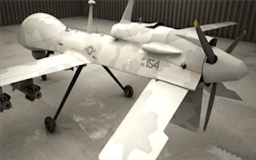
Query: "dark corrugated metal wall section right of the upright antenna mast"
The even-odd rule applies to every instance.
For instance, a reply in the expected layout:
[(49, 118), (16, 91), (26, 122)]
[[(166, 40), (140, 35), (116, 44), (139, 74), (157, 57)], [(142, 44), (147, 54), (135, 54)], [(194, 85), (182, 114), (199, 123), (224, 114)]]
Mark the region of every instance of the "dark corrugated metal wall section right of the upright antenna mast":
[[(120, 20), (128, 0), (95, 0), (97, 17)], [(234, 21), (237, 26), (208, 31), (207, 35), (236, 38), (245, 29), (244, 40), (256, 42), (255, 0), (134, 0), (132, 20), (162, 22), (172, 28), (200, 24)], [(84, 15), (87, 15), (84, 14)]]

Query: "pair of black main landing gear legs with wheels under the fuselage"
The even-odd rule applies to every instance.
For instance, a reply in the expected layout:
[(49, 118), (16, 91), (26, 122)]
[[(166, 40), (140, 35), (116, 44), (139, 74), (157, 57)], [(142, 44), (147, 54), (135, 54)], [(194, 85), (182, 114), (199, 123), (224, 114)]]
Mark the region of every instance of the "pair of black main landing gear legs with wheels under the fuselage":
[[(61, 104), (58, 108), (58, 110), (55, 113), (54, 118), (52, 119), (51, 116), (47, 116), (44, 120), (45, 123), (45, 127), (47, 129), (48, 132), (54, 132), (55, 127), (56, 127), (56, 120), (58, 118), (58, 116), (60, 115), (61, 109), (63, 108), (69, 93), (71, 92), (74, 84), (76, 83), (77, 78), (79, 77), (79, 74), (81, 73), (81, 70), (83, 69), (83, 67), (85, 67), (86, 65), (80, 65), (77, 70), (76, 73), (74, 75), (74, 77), (72, 78), (71, 83), (68, 86), (67, 92), (65, 93), (63, 99), (61, 100)], [(118, 81), (118, 79), (116, 79), (116, 77), (113, 75), (113, 73), (109, 70), (108, 67), (103, 66), (105, 68), (105, 70), (110, 74), (111, 77), (113, 77), (113, 79), (116, 81), (116, 83), (122, 88), (122, 90), (124, 90), (125, 96), (126, 97), (132, 97), (133, 94), (133, 90), (132, 87), (130, 85), (127, 86), (122, 86), (122, 84)]]

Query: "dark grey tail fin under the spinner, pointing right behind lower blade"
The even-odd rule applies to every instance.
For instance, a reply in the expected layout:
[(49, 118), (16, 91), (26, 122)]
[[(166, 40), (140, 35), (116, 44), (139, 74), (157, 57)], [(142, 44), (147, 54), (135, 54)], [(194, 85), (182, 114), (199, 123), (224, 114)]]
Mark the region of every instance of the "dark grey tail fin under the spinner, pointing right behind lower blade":
[[(211, 88), (212, 88), (212, 85), (209, 87), (205, 86), (204, 90), (208, 93), (211, 93)], [(241, 99), (241, 97), (239, 95), (237, 95), (236, 92), (234, 92), (233, 90), (229, 90), (223, 83), (218, 83), (218, 86), (216, 89), (216, 95), (225, 97), (228, 99), (235, 99), (235, 100), (243, 101), (243, 99)]]

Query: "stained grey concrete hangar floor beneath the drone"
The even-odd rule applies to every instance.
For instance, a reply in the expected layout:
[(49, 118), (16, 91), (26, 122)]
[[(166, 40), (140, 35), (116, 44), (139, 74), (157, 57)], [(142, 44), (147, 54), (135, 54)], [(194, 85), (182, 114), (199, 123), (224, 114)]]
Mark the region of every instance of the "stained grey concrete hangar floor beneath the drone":
[[(86, 30), (86, 17), (61, 19), (70, 28)], [(95, 19), (99, 33), (109, 33), (114, 21)], [(19, 25), (1, 29), (0, 68), (33, 61), (31, 52), (17, 43)], [(225, 50), (233, 40), (218, 38), (217, 46)], [(232, 55), (243, 60), (250, 74), (240, 81), (224, 83), (244, 100), (216, 97), (206, 136), (186, 131), (176, 125), (166, 127), (168, 142), (157, 159), (248, 159), (255, 155), (255, 52), (256, 45), (240, 42)], [(124, 96), (119, 86), (100, 66), (88, 65), (82, 71), (56, 131), (50, 134), (44, 126), (46, 116), (54, 116), (74, 72), (48, 75), (47, 81), (34, 79), (42, 87), (42, 98), (29, 102), (24, 94), (12, 92), (13, 108), (0, 116), (0, 159), (97, 159), (100, 150), (122, 122), (149, 79), (113, 70), (123, 84), (131, 84), (134, 95)], [(209, 93), (202, 100), (201, 130)]]

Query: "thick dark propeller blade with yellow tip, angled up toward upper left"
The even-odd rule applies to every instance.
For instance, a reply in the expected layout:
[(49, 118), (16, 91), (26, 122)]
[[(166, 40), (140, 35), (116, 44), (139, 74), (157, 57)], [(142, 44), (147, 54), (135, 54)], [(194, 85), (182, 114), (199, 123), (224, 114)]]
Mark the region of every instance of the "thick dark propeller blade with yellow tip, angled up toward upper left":
[[(196, 22), (196, 20), (195, 20)], [(196, 33), (199, 37), (199, 40), (200, 40), (200, 43), (204, 49), (204, 52), (207, 56), (207, 60), (209, 63), (215, 63), (217, 61), (217, 57), (215, 56), (214, 52), (212, 51), (211, 49), (211, 45), (207, 42), (206, 38), (205, 38), (205, 35), (204, 33), (202, 32), (202, 29), (200, 28), (200, 25), (197, 24), (195, 26), (196, 28)]]

